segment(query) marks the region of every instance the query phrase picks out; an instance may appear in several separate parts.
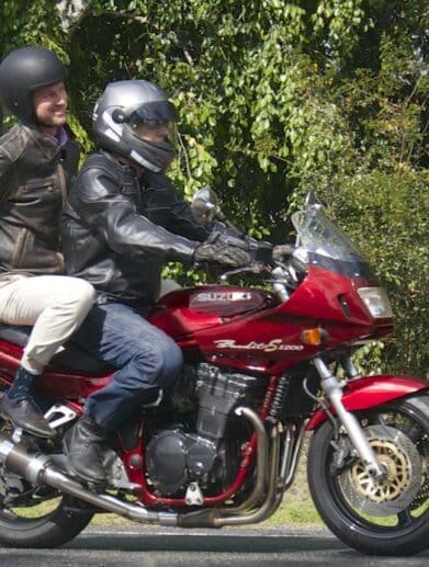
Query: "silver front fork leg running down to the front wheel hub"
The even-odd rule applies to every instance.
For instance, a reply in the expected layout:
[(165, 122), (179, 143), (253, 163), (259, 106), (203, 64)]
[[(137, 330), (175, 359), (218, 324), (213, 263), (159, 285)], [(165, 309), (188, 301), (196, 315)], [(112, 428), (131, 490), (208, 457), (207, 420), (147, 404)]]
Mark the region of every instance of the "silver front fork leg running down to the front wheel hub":
[(321, 378), (321, 387), (326, 394), (326, 397), (331, 402), (338, 419), (342, 423), (343, 428), (349, 435), (349, 439), (355, 449), (358, 455), (360, 456), (365, 470), (373, 478), (381, 478), (384, 476), (384, 469), (377, 462), (375, 457), (375, 453), (373, 452), (364, 432), (361, 428), (359, 421), (347, 411), (345, 406), (342, 405), (342, 388), (340, 383), (338, 382), (337, 376), (335, 376), (329, 367), (325, 364), (325, 362), (316, 356), (313, 360), (314, 365), (316, 366), (317, 372)]

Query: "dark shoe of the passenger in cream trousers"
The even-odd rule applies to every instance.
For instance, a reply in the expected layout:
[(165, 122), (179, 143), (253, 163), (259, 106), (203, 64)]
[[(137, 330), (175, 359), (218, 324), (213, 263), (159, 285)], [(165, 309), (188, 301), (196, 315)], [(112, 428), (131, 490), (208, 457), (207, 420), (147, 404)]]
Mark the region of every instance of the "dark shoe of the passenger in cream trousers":
[(33, 435), (50, 439), (56, 434), (29, 394), (13, 398), (4, 394), (0, 401), (0, 413), (15, 428), (22, 428)]

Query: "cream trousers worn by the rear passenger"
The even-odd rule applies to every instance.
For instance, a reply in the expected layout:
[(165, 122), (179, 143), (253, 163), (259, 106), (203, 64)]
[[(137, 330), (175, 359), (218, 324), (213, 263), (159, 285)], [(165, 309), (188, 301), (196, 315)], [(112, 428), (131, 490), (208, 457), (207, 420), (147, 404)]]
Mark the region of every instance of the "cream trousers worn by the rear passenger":
[(0, 322), (33, 326), (27, 359), (47, 364), (78, 329), (95, 299), (91, 284), (66, 275), (0, 277)]

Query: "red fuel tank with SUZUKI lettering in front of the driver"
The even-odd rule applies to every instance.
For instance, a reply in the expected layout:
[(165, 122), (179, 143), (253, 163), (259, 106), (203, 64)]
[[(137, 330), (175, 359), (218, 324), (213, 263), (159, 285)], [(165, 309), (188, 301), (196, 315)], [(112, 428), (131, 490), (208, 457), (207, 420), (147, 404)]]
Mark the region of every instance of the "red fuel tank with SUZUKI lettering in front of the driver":
[(201, 285), (161, 297), (149, 313), (148, 320), (170, 337), (181, 339), (279, 303), (274, 294), (263, 290)]

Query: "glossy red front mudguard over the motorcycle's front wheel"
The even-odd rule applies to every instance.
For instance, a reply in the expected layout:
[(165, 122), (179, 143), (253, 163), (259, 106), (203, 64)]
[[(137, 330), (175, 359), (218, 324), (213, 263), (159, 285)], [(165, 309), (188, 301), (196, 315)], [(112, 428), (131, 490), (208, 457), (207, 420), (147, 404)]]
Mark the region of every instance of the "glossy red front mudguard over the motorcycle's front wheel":
[[(428, 390), (429, 383), (414, 376), (390, 374), (363, 376), (347, 384), (341, 401), (348, 411), (360, 411), (382, 406), (416, 392)], [(330, 411), (335, 413), (334, 408), (330, 408)], [(317, 429), (326, 419), (326, 411), (321, 409), (316, 411), (308, 421), (306, 431)]]

